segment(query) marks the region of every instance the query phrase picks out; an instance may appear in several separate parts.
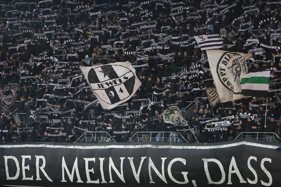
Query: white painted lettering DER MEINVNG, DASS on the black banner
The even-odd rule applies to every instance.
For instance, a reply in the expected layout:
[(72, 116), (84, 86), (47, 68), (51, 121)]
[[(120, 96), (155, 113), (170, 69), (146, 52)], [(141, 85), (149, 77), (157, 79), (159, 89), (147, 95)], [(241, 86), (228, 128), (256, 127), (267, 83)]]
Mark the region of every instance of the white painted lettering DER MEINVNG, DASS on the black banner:
[[(5, 171), (6, 171), (6, 176), (7, 176), (7, 180), (17, 180), (18, 178), (19, 178), (19, 175), (20, 175), (20, 165), (19, 165), (19, 161), (18, 161), (18, 159), (16, 158), (16, 157), (14, 157), (14, 156), (3, 156), (4, 157), (4, 163), (5, 163)], [(31, 155), (22, 155), (21, 156), (22, 157), (22, 179), (20, 179), (20, 180), (33, 180), (33, 175), (31, 175), (30, 173), (28, 173), (29, 174), (29, 176), (31, 176), (31, 177), (26, 177), (26, 175), (27, 175), (27, 173), (26, 173), (26, 170), (28, 170), (29, 172), (31, 172), (30, 171), (30, 167), (29, 167), (29, 165), (31, 164), (27, 164), (26, 163), (26, 159), (29, 159), (29, 161), (31, 161)], [(42, 173), (45, 175), (45, 177), (50, 181), (50, 182), (53, 182), (53, 180), (52, 179), (50, 179), (49, 178), (49, 176), (47, 175), (47, 173), (45, 172), (45, 170), (44, 170), (44, 168), (45, 168), (45, 165), (46, 165), (46, 160), (45, 160), (45, 157), (44, 156), (35, 156), (35, 158), (36, 158), (36, 163), (35, 163), (35, 165), (36, 165), (36, 176), (37, 176), (37, 178), (36, 178), (36, 180), (42, 180), (41, 178), (40, 178), (40, 173), (39, 173), (39, 171), (41, 170), (42, 171)], [(120, 160), (121, 160), (121, 162), (120, 162), (120, 168), (119, 167), (116, 167), (115, 166), (115, 164), (114, 164), (114, 162), (113, 162), (113, 159), (111, 158), (111, 157), (109, 157), (109, 159), (107, 159), (107, 161), (109, 162), (109, 167), (108, 167), (108, 169), (109, 169), (109, 171), (107, 171), (106, 170), (106, 173), (109, 173), (109, 178), (110, 178), (110, 181), (109, 181), (109, 183), (114, 183), (114, 181), (113, 181), (113, 178), (114, 178), (114, 176), (112, 176), (112, 169), (114, 170), (114, 172), (117, 174), (117, 176), (119, 177), (119, 179), (122, 181), (122, 182), (124, 182), (124, 183), (126, 183), (125, 182), (125, 179), (124, 179), (124, 173), (123, 173), (123, 164), (124, 164), (124, 159), (125, 159), (125, 157), (119, 157), (120, 158)], [(148, 167), (148, 171), (149, 171), (149, 178), (150, 178), (150, 182), (149, 183), (155, 183), (155, 182), (153, 182), (153, 179), (152, 179), (152, 177), (155, 177), (155, 174), (152, 176), (152, 173), (151, 173), (151, 169), (153, 169), (154, 171), (155, 171), (155, 173), (156, 173), (156, 175), (158, 175), (158, 177), (163, 181), (163, 182), (165, 182), (166, 184), (168, 184), (167, 183), (167, 180), (166, 180), (166, 177), (165, 177), (165, 171), (168, 173), (168, 175), (169, 175), (169, 178), (173, 181), (173, 182), (175, 182), (175, 183), (177, 183), (177, 184), (187, 184), (188, 182), (189, 182), (189, 180), (188, 180), (188, 178), (187, 178), (187, 174), (188, 174), (188, 172), (187, 171), (182, 171), (182, 172), (180, 172), (180, 171), (178, 171), (178, 170), (175, 170), (174, 168), (176, 167), (175, 165), (177, 165), (177, 164), (175, 164), (174, 165), (174, 163), (175, 162), (177, 162), (177, 161), (179, 161), (179, 162), (181, 162), (181, 163), (183, 163), (183, 165), (188, 165), (187, 163), (186, 163), (186, 159), (184, 159), (184, 158), (174, 158), (174, 159), (172, 159), (169, 163), (168, 163), (168, 166), (167, 167), (165, 167), (165, 160), (167, 159), (167, 157), (162, 157), (161, 159), (162, 159), (162, 164), (161, 164), (161, 171), (162, 171), (162, 173), (160, 173), (160, 171), (156, 168), (156, 166), (155, 166), (155, 164), (153, 163), (153, 161), (152, 161), (152, 159), (151, 159), (151, 157), (149, 157), (149, 160), (148, 160), (148, 165), (146, 165), (146, 168), (145, 169), (143, 169), (143, 170), (141, 170), (142, 169), (142, 166), (143, 166), (143, 163), (144, 163), (144, 161), (145, 161), (145, 159), (147, 158), (147, 157), (140, 157), (140, 163), (139, 163), (139, 165), (138, 165), (138, 167), (137, 167), (137, 165), (135, 166), (134, 165), (134, 162), (133, 162), (133, 159), (134, 159), (134, 157), (127, 157), (128, 158), (128, 160), (129, 160), (129, 162), (130, 162), (130, 166), (131, 166), (131, 168), (132, 168), (132, 173), (133, 173), (133, 175), (134, 175), (134, 177), (135, 177), (135, 179), (136, 179), (136, 181), (138, 182), (138, 183), (140, 183), (140, 171), (147, 171), (147, 167)], [(9, 163), (8, 163), (8, 159), (12, 159), (11, 161), (9, 161)], [(41, 166), (39, 166), (39, 163), (40, 163), (40, 159), (42, 159), (42, 165)], [(104, 175), (104, 169), (103, 169), (103, 164), (104, 164), (104, 160), (105, 160), (105, 158), (98, 158), (99, 159), (99, 161), (100, 161), (100, 163), (99, 163), (99, 165), (100, 165), (100, 173), (101, 173), (101, 180), (96, 176), (96, 177), (94, 177), (94, 175), (93, 174), (95, 174), (95, 172), (94, 172), (94, 168), (96, 168), (97, 169), (97, 167), (98, 167), (98, 163), (96, 163), (95, 161), (96, 161), (96, 158), (83, 158), (84, 160), (85, 160), (85, 173), (86, 173), (86, 177), (87, 177), (87, 179), (85, 178), (85, 181), (86, 181), (86, 183), (95, 183), (95, 184), (100, 184), (100, 183), (107, 183), (106, 181), (105, 181), (105, 175)], [(135, 158), (136, 159), (136, 158)], [(138, 158), (139, 159), (139, 158)], [(127, 164), (128, 164), (128, 160), (125, 160), (126, 162), (127, 162)], [(224, 168), (223, 168), (223, 164), (221, 163), (221, 161), (219, 161), (219, 160), (217, 160), (217, 159), (212, 159), (212, 158), (210, 158), (210, 159), (205, 159), (205, 158), (203, 158), (202, 159), (203, 161), (204, 161), (204, 171), (205, 171), (205, 173), (206, 173), (206, 177), (207, 177), (207, 179), (208, 179), (208, 184), (223, 184), (223, 183), (225, 183), (226, 181), (225, 181), (225, 179), (226, 179), (226, 173), (225, 173), (225, 170), (224, 170)], [(258, 175), (257, 175), (257, 171), (255, 171), (255, 169), (251, 166), (251, 164), (250, 164), (250, 162), (251, 162), (251, 160), (254, 160), (255, 162), (258, 160), (257, 159), (257, 157), (254, 157), (254, 156), (250, 156), (249, 158), (248, 158), (248, 161), (247, 161), (247, 166), (248, 166), (248, 168), (249, 168), (249, 170), (253, 173), (253, 175), (254, 175), (254, 177), (253, 177), (253, 175), (251, 174), (251, 172), (249, 173), (250, 174), (250, 178), (251, 179), (254, 179), (254, 180), (250, 180), (249, 178), (247, 178), (247, 181), (248, 181), (248, 183), (249, 184), (257, 184), (257, 182), (258, 182)], [(96, 163), (97, 165), (97, 167), (94, 167), (94, 166), (89, 166), (89, 162), (91, 162), (91, 161), (93, 161), (94, 163)], [(271, 173), (265, 168), (265, 165), (264, 165), (264, 163), (266, 162), (266, 161), (268, 161), (269, 163), (271, 163), (271, 159), (269, 159), (269, 158), (263, 158), (262, 160), (261, 160), (261, 169), (264, 171), (264, 173), (267, 175), (267, 178), (268, 178), (268, 180), (267, 180), (267, 178), (262, 178), (263, 180), (265, 180), (265, 182), (263, 181), (263, 180), (261, 180), (261, 184), (263, 185), (263, 186), (271, 186), (272, 185), (272, 176), (271, 176)], [(15, 162), (15, 164), (14, 163), (11, 163), (11, 162)], [(118, 162), (118, 161), (115, 161), (115, 162)], [(159, 163), (159, 160), (155, 160), (155, 163), (157, 162), (157, 164), (158, 165), (160, 165), (160, 163)], [(217, 165), (216, 164), (211, 164), (211, 167), (210, 167), (210, 162), (214, 162), (214, 163), (216, 163), (218, 166), (219, 166), (219, 169), (220, 169), (220, 171), (221, 171), (221, 175), (219, 174), (219, 171), (218, 171), (218, 169), (217, 169)], [(227, 163), (228, 163), (228, 161), (226, 161)], [(179, 163), (180, 165), (181, 165), (181, 163)], [(209, 163), (209, 167), (208, 167), (208, 163)], [(174, 165), (174, 166), (173, 166)], [(118, 165), (119, 166), (119, 165)], [(130, 166), (128, 166), (128, 167), (130, 167)], [(268, 165), (267, 165), (268, 166)], [(14, 176), (10, 176), (9, 175), (9, 169), (8, 169), (8, 167), (10, 167), (10, 169), (12, 169), (13, 168), (13, 170), (11, 170), (10, 171), (10, 175), (14, 175), (14, 173), (16, 173)], [(90, 167), (90, 168), (89, 168)], [(136, 167), (137, 167), (137, 170), (136, 170)], [(118, 169), (117, 169), (118, 168)], [(227, 168), (227, 167), (226, 167)], [(233, 170), (232, 170), (232, 168), (233, 168)], [(130, 171), (130, 170), (128, 170), (129, 168), (125, 168), (125, 171)], [(211, 171), (211, 169), (212, 169), (212, 171)], [(64, 176), (64, 170), (66, 171), (66, 173), (67, 173), (67, 175), (68, 175), (68, 177), (69, 177), (69, 179), (70, 179), (70, 181), (71, 182), (73, 182), (73, 178), (74, 178), (74, 173), (76, 173), (76, 176), (77, 176), (77, 182), (79, 182), (79, 183), (83, 183), (83, 181), (81, 180), (81, 178), (80, 178), (80, 175), (79, 175), (79, 169), (78, 169), (78, 158), (76, 157), (76, 159), (75, 159), (75, 161), (74, 161), (74, 163), (73, 163), (73, 167), (72, 167), (72, 170), (71, 170), (71, 173), (70, 173), (70, 171), (69, 171), (69, 169), (68, 169), (68, 167), (67, 167), (67, 165), (66, 165), (66, 163), (65, 163), (65, 159), (64, 159), (64, 157), (62, 157), (62, 180), (61, 180), (61, 182), (69, 182), (69, 181), (67, 181), (67, 180), (65, 180), (65, 176)], [(172, 172), (173, 171), (173, 172)], [(176, 171), (176, 172), (175, 172)], [(81, 172), (83, 172), (83, 171), (81, 171), (80, 170), (80, 174), (81, 175), (83, 175), (83, 176), (85, 176), (85, 174), (83, 173), (81, 173)], [(212, 179), (211, 179), (211, 177), (210, 177), (210, 173), (214, 173), (214, 172), (218, 172), (218, 175), (219, 176), (221, 176), (221, 179), (220, 178), (217, 178), (216, 180), (217, 181), (213, 181)], [(12, 174), (13, 173), (13, 174)], [(177, 174), (176, 174), (177, 173)], [(180, 177), (178, 174), (179, 173), (181, 173), (182, 175), (183, 175), (183, 177)], [(238, 170), (238, 166), (237, 166), (237, 164), (236, 164), (236, 160), (235, 160), (235, 158), (234, 158), (234, 156), (231, 158), (231, 161), (230, 161), (230, 163), (229, 163), (229, 167), (228, 167), (228, 182), (227, 182), (227, 184), (232, 184), (232, 182), (231, 182), (231, 174), (233, 174), (233, 173), (236, 173), (236, 175), (238, 176), (238, 178), (239, 178), (239, 180), (240, 180), (240, 183), (247, 183), (243, 178), (242, 178), (242, 175), (241, 175), (241, 173), (240, 173), (240, 171)], [(128, 173), (126, 173), (126, 174), (128, 174)], [(243, 173), (242, 173), (243, 174)], [(260, 174), (260, 173), (259, 173)], [(174, 175), (174, 176), (173, 176)], [(263, 174), (264, 175), (264, 174)], [(92, 178), (94, 178), (95, 180), (91, 180), (91, 178), (90, 178), (90, 176), (92, 177)], [(143, 175), (142, 175), (143, 176)], [(265, 175), (264, 175), (265, 176)], [(174, 177), (176, 177), (176, 179), (174, 178)], [(232, 176), (233, 177), (233, 176)], [(191, 176), (189, 176), (189, 178), (191, 178)], [(234, 177), (234, 178), (236, 178), (236, 176)], [(108, 175), (107, 175), (107, 179), (108, 179)], [(233, 178), (232, 178), (233, 179)], [(45, 178), (43, 179), (43, 181), (45, 180)], [(114, 180), (117, 180), (117, 178), (114, 178)], [(219, 180), (219, 181), (218, 181)], [(159, 180), (158, 180), (159, 181)], [(119, 182), (119, 181), (118, 181)], [(193, 185), (194, 186), (197, 186), (196, 185), (196, 182), (195, 182), (195, 180), (192, 180), (192, 183), (193, 183)]]

